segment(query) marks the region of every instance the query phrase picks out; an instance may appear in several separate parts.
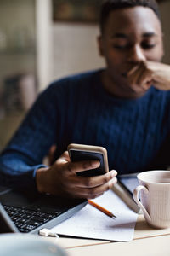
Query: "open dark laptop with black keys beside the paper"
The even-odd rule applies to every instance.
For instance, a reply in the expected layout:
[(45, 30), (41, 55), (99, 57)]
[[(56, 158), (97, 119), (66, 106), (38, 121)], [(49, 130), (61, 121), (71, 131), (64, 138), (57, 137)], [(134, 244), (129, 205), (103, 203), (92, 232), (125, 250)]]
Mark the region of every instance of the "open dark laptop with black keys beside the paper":
[(50, 229), (82, 209), (88, 200), (20, 193), (0, 187), (0, 233), (32, 233)]

